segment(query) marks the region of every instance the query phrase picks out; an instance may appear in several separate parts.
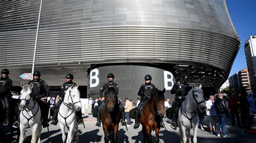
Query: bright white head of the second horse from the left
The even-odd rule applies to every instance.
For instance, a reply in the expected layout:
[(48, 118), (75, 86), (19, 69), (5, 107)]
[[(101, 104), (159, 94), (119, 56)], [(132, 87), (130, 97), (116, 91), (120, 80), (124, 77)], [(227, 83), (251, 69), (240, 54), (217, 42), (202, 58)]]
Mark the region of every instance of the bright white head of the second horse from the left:
[(82, 110), (82, 104), (80, 101), (80, 92), (78, 90), (78, 86), (72, 85), (68, 90), (66, 90), (64, 102), (73, 106), (73, 108), (76, 111)]

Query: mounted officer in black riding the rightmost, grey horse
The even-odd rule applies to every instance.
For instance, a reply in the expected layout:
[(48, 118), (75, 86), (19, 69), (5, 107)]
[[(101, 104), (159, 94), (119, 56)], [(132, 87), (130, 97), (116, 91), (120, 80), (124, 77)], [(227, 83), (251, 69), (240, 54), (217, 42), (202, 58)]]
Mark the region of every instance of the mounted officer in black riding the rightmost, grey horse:
[(178, 119), (178, 111), (185, 100), (185, 97), (188, 94), (188, 91), (191, 90), (191, 87), (187, 84), (189, 80), (189, 77), (187, 75), (181, 76), (181, 80), (179, 82), (176, 82), (172, 89), (171, 94), (176, 94), (174, 101), (172, 102), (172, 108), (173, 108), (173, 119), (171, 123), (171, 127), (176, 130), (177, 129), (177, 119)]

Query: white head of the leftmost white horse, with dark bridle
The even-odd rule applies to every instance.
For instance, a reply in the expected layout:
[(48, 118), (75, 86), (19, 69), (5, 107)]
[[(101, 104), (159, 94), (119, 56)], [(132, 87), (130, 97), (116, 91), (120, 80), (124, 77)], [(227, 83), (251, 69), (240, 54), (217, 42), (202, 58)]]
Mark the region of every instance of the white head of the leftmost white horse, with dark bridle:
[(33, 88), (33, 83), (30, 83), (30, 85), (28, 84), (24, 84), (23, 82), (21, 83), (21, 104), (19, 104), (19, 110), (23, 111), (28, 107), (28, 104), (31, 101), (31, 98), (33, 100), (32, 97), (32, 88)]

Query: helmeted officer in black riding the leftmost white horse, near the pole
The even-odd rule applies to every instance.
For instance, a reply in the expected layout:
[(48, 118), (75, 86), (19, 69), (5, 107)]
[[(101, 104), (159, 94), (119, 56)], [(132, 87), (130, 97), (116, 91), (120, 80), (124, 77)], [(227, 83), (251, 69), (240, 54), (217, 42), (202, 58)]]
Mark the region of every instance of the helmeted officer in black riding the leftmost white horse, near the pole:
[(49, 105), (47, 104), (47, 97), (50, 95), (50, 87), (48, 84), (41, 80), (41, 73), (39, 71), (35, 71), (33, 73), (33, 80), (29, 81), (28, 84), (33, 83), (33, 92), (35, 98), (38, 101), (38, 104), (41, 109), (42, 117), (43, 117), (43, 127), (48, 127), (48, 113), (49, 113)]

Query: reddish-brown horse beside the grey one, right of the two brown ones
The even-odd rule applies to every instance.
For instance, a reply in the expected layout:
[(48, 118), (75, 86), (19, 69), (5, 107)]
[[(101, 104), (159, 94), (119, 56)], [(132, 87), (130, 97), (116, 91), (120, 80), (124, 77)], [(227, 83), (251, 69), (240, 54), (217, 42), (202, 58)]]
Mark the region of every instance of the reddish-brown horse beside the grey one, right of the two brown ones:
[(156, 142), (159, 142), (160, 121), (164, 117), (164, 92), (156, 89), (156, 94), (146, 102), (139, 123), (142, 124), (142, 132), (144, 134), (144, 142), (152, 142), (151, 132), (155, 130)]

